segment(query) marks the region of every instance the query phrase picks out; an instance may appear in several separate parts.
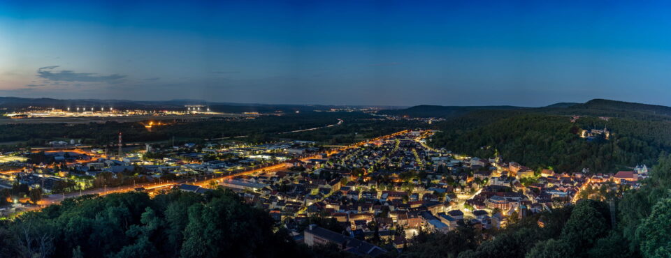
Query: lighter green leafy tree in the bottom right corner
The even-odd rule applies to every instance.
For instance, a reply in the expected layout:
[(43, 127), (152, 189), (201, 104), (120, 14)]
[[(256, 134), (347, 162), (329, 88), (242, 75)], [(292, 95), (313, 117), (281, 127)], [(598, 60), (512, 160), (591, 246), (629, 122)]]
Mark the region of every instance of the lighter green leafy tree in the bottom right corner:
[(662, 199), (636, 230), (643, 257), (668, 257), (671, 254), (671, 198)]

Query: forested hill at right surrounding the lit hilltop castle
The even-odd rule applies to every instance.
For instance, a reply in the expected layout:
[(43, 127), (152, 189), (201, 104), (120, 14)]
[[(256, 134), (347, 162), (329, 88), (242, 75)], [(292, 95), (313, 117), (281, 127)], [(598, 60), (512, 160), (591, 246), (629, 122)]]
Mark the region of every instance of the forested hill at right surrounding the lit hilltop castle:
[[(654, 165), (660, 153), (671, 152), (671, 116), (660, 114), (665, 109), (670, 108), (592, 100), (579, 107), (470, 112), (435, 124), (441, 132), (431, 144), (482, 158), (498, 151), (534, 169), (616, 172)], [(609, 139), (579, 137), (582, 130), (603, 128), (612, 133)]]

